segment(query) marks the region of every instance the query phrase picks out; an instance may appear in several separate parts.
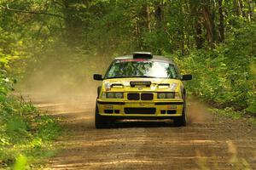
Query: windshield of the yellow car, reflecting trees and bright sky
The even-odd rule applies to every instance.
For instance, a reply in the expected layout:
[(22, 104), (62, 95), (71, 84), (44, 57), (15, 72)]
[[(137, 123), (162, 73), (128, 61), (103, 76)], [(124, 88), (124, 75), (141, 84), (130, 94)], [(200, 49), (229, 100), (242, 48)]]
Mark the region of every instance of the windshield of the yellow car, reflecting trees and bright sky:
[(174, 65), (164, 61), (143, 59), (120, 59), (109, 68), (105, 78), (152, 77), (177, 78)]

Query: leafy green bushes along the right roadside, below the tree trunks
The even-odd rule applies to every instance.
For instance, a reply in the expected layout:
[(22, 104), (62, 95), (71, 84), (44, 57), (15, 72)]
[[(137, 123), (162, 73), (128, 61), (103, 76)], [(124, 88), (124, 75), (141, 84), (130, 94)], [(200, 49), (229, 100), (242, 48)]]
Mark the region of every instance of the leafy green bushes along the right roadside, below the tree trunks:
[(183, 72), (194, 80), (189, 91), (221, 107), (249, 111), (255, 114), (256, 25), (238, 26), (229, 39), (215, 48), (192, 51), (187, 57), (177, 57)]

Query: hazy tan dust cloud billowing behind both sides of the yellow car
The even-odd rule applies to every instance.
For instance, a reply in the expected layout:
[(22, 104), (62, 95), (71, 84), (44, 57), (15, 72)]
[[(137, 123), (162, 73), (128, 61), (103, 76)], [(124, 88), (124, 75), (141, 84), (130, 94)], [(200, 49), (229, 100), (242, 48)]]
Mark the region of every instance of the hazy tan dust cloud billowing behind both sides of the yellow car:
[[(26, 100), (40, 108), (57, 108), (55, 112), (94, 110), (96, 89), (100, 82), (93, 74), (104, 74), (112, 58), (106, 55), (89, 55), (67, 48), (56, 48), (38, 56), (27, 70), (18, 91)], [(211, 121), (207, 105), (198, 99), (189, 99), (190, 123)]]

